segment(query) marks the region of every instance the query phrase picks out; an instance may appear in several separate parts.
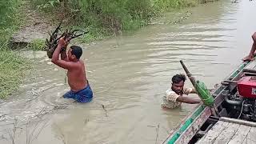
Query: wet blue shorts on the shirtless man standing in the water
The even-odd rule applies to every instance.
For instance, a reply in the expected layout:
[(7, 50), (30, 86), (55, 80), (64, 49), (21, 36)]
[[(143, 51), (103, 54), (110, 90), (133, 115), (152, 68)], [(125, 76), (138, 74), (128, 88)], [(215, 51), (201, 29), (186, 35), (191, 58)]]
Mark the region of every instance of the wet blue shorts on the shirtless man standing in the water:
[(86, 88), (74, 92), (72, 90), (68, 91), (63, 95), (63, 98), (73, 98), (77, 102), (90, 102), (93, 99), (93, 91), (90, 89), (90, 85), (86, 86)]

